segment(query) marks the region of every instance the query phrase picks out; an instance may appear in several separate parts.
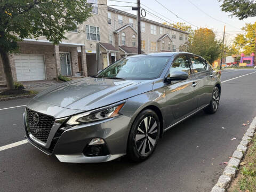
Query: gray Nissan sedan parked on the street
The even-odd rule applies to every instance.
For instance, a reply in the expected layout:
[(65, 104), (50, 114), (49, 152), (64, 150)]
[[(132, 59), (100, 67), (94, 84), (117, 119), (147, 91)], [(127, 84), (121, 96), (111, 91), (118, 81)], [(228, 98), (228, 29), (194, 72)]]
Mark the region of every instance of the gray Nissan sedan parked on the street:
[(51, 87), (23, 114), (31, 145), (60, 162), (143, 161), (165, 131), (217, 111), (220, 71), (191, 53), (123, 58), (95, 77)]

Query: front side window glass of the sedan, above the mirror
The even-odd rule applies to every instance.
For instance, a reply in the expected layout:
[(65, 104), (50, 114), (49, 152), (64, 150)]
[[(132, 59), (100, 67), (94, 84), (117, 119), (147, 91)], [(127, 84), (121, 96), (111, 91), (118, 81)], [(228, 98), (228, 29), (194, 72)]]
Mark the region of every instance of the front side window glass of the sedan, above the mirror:
[(170, 67), (170, 74), (174, 71), (185, 71), (186, 73), (188, 73), (188, 75), (191, 74), (188, 58), (185, 55), (177, 57), (172, 62), (172, 66)]

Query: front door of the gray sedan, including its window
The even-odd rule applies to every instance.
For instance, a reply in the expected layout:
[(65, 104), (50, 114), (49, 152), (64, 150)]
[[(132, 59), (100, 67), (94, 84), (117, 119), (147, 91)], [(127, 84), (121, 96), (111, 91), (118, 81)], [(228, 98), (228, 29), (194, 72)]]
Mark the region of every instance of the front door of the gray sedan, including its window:
[(165, 86), (167, 100), (167, 126), (186, 116), (197, 108), (198, 85), (191, 77), (190, 63), (186, 55), (179, 55), (174, 59), (167, 76), (173, 71), (185, 71), (188, 79), (183, 81), (172, 81)]

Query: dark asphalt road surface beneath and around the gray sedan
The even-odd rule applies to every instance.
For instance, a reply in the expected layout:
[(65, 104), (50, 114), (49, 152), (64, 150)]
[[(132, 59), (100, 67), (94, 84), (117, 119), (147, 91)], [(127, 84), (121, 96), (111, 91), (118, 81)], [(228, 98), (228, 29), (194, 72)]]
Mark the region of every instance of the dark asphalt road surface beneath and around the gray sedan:
[[(224, 70), (222, 81), (254, 69)], [(147, 161), (68, 164), (29, 143), (0, 151), (0, 191), (210, 191), (256, 116), (256, 73), (222, 84), (214, 115), (203, 111), (167, 131)], [(23, 140), (29, 99), (0, 102), (0, 147)], [(224, 128), (224, 129), (223, 129)], [(236, 138), (235, 140), (231, 140)]]

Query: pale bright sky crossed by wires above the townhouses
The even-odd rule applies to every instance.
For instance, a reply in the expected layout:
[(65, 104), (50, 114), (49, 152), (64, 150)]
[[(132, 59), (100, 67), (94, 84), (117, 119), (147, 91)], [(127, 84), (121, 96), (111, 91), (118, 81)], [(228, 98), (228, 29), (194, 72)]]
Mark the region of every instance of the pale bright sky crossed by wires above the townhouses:
[[(125, 2), (133, 2), (136, 3), (136, 0), (119, 0), (119, 1), (125, 1)], [(253, 23), (256, 21), (256, 17), (253, 18), (247, 18), (244, 20), (239, 20), (236, 17), (229, 17), (230, 13), (222, 12), (221, 11), (221, 2), (218, 0), (157, 0), (161, 4), (163, 4), (167, 9), (178, 15), (179, 18), (177, 18), (174, 14), (172, 14), (170, 11), (166, 10), (162, 5), (158, 4), (156, 0), (141, 0), (141, 7), (145, 10), (148, 10), (151, 13), (154, 13), (158, 17), (162, 18), (159, 19), (155, 17), (154, 15), (149, 15), (148, 13), (146, 15), (147, 19), (151, 19), (157, 22), (185, 22), (183, 20), (186, 20), (187, 22), (197, 26), (197, 27), (207, 27), (210, 29), (213, 29), (213, 31), (216, 32), (217, 38), (223, 37), (223, 28), (226, 23), (226, 41), (232, 42), (236, 34), (243, 33), (241, 31), (241, 28), (245, 26), (245, 23)], [(194, 5), (199, 7), (198, 10)], [(132, 3), (122, 3), (122, 2), (116, 2), (116, 1), (110, 1), (108, 0), (108, 5), (124, 5), (124, 6), (137, 6), (136, 4)], [(146, 5), (146, 6), (143, 6)], [(120, 9), (122, 11), (126, 11), (129, 13), (137, 14), (136, 11), (132, 11), (131, 7), (118, 7), (113, 6), (116, 9)], [(153, 12), (154, 10), (155, 12)], [(162, 14), (164, 17), (162, 17)], [(209, 17), (211, 15), (211, 17)], [(215, 19), (213, 19), (213, 18)], [(167, 19), (168, 20), (167, 20)], [(182, 18), (182, 19), (180, 19)], [(219, 20), (219, 21), (217, 21)], [(174, 22), (173, 22), (174, 21)], [(187, 23), (188, 25), (190, 25)], [(193, 29), (196, 29), (196, 27), (192, 26)]]

